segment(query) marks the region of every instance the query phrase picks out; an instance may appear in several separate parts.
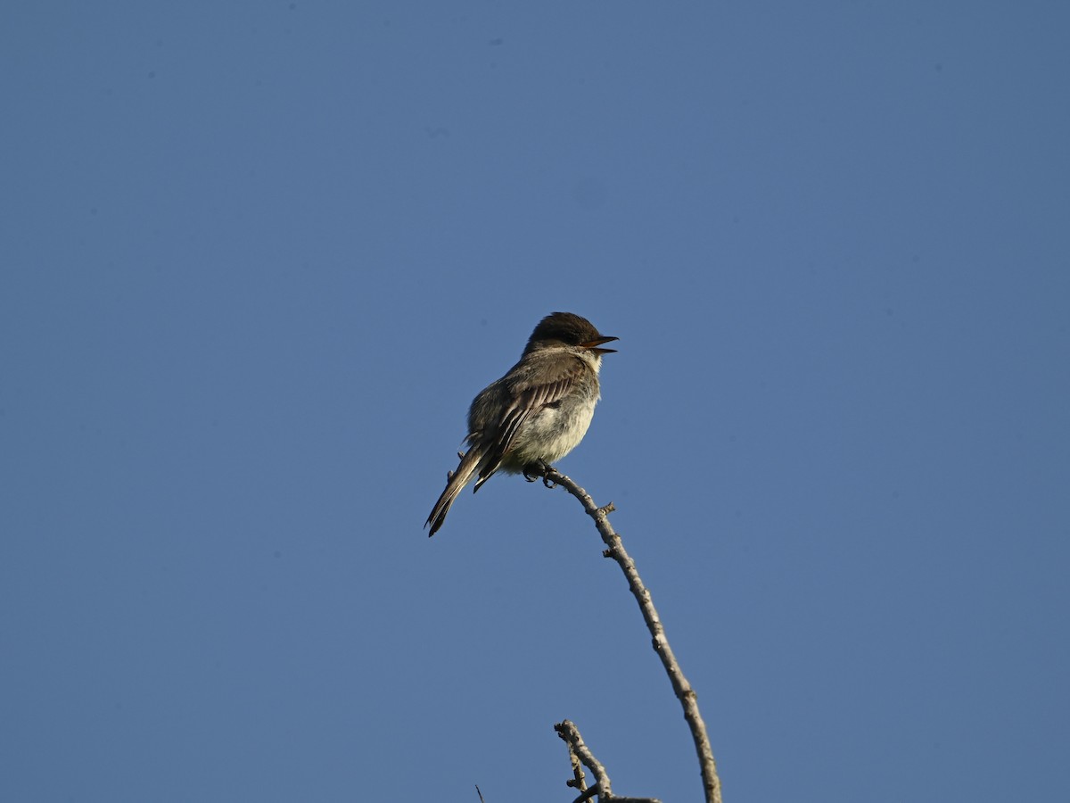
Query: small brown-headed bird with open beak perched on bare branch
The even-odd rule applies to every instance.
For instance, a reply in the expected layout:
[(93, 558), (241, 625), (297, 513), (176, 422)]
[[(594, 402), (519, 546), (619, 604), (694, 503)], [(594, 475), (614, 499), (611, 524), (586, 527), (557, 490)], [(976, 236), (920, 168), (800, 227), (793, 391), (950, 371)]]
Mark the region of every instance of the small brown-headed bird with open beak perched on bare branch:
[(535, 327), (520, 362), (487, 385), (469, 408), (469, 451), (456, 471), (446, 474), (446, 489), (424, 525), (433, 535), (446, 520), (449, 505), (478, 474), (473, 491), (491, 474), (532, 474), (571, 452), (583, 440), (598, 403), (599, 348), (615, 340), (598, 334), (586, 318), (553, 313)]

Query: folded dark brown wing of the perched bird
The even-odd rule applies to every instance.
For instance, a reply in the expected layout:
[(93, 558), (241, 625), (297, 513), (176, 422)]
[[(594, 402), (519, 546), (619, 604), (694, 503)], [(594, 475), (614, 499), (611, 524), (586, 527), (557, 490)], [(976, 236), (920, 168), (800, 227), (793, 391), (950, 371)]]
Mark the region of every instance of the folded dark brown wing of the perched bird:
[(502, 459), (513, 445), (513, 440), (523, 423), (542, 408), (559, 404), (568, 395), (576, 382), (588, 370), (583, 361), (576, 358), (563, 368), (554, 360), (546, 365), (534, 366), (531, 370), (505, 377), (508, 404), (501, 419), (493, 426), (493, 440), (479, 469), (479, 481), (474, 490), (486, 482), (502, 465)]

